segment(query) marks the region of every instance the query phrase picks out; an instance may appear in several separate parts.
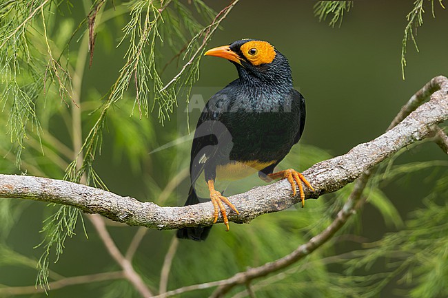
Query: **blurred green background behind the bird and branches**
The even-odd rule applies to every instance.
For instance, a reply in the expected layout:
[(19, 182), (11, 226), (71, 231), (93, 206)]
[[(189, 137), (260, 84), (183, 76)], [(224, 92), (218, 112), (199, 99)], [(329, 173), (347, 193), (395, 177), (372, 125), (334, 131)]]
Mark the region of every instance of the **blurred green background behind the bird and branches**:
[[(447, 12), (439, 5), (434, 7), (436, 18), (431, 16), (431, 7), (427, 5), (425, 23), (418, 28), (416, 34), (420, 52), (417, 53), (412, 43), (408, 43), (408, 65), (405, 68), (406, 79), (403, 80), (400, 50), (407, 23), (405, 15), (412, 8), (412, 1), (357, 1), (354, 8), (344, 15), (340, 28), (329, 27), (328, 20), (319, 22), (313, 14), (314, 3), (241, 1), (223, 21), (222, 30), (216, 32), (208, 45), (210, 48), (243, 38), (262, 39), (272, 43), (287, 56), (292, 66), (294, 85), (307, 100), (307, 123), (300, 144), (280, 167), (293, 165), (301, 170), (330, 156), (346, 153), (355, 145), (382, 134), (409, 97), (434, 76), (446, 75), (448, 65), (448, 17)], [(72, 14), (58, 17), (61, 24), (63, 19), (72, 18), (73, 23), (78, 23), (83, 18), (83, 8), (78, 3), (73, 4)], [(186, 1), (185, 4), (188, 5)], [(221, 1), (209, 1), (207, 4), (216, 11), (224, 6)], [(125, 25), (127, 18), (123, 14), (98, 28), (93, 65), (90, 69), (86, 66), (83, 76), (81, 107), (83, 101), (88, 106), (83, 113), (84, 137), (96, 120), (96, 114), (88, 114), (95, 107), (92, 102), (99, 100), (107, 92), (123, 65), (125, 48), (116, 49), (116, 44), (121, 36), (119, 30)], [(77, 47), (74, 43), (74, 53)], [(172, 56), (174, 53), (166, 46), (161, 54)], [(182, 61), (179, 67), (170, 66), (164, 76), (168, 78), (176, 74), (181, 65)], [(207, 100), (236, 76), (236, 70), (227, 61), (203, 58), (201, 76), (195, 83), (192, 94), (200, 94)], [(97, 156), (94, 168), (110, 191), (152, 201), (158, 198), (176, 173), (188, 166), (191, 140), (148, 154), (187, 135), (185, 100), (179, 98), (179, 107), (174, 109), (172, 120), (162, 126), (156, 119), (156, 113), (142, 120), (139, 120), (137, 114), (129, 117), (132, 92), (134, 91), (130, 88), (130, 99), (117, 103), (110, 112), (103, 134), (101, 155)], [(59, 99), (54, 100), (59, 109), (68, 110)], [(6, 111), (0, 115), (6, 117)], [(197, 110), (190, 114), (190, 127), (194, 128), (197, 117)], [(64, 116), (52, 118), (50, 128), (54, 135), (70, 147), (70, 134), (61, 125), (63, 118)], [(124, 123), (128, 120), (141, 126), (139, 134), (128, 134)], [(133, 142), (139, 145), (134, 145)], [(140, 147), (145, 147), (147, 151), (142, 152)], [(28, 158), (48, 163), (43, 155)], [(427, 142), (409, 148), (398, 157), (396, 164), (428, 160), (447, 160), (447, 156), (436, 145)], [(1, 167), (1, 173), (19, 173), (14, 170), (10, 160), (4, 160)], [(446, 166), (427, 167), (409, 175), (399, 175), (393, 181), (380, 184), (383, 193), (375, 189), (376, 195), (381, 196), (382, 200), (388, 198), (400, 217), (406, 220), (411, 211), (424, 207), (422, 199), (430, 195), (436, 182), (446, 175), (445, 168)], [(52, 178), (62, 178), (62, 175)], [(187, 179), (163, 203), (183, 204), (188, 187), (186, 181)], [(245, 191), (262, 183), (258, 178), (249, 178), (232, 191)], [(309, 200), (305, 209), (263, 215), (251, 224), (231, 224), (230, 233), (225, 233), (222, 224), (219, 224), (213, 228), (207, 242), (181, 242), (174, 257), (168, 288), (224, 278), (247, 266), (260, 265), (289, 253), (328, 224), (338, 206), (332, 206), (332, 203), (343, 200), (345, 195), (347, 191), (341, 193), (340, 197), (327, 195), (319, 200)], [(41, 221), (56, 209), (41, 202), (14, 202), (14, 208), (21, 211), (4, 241), (17, 253), (38, 259), (42, 250), (33, 247), (42, 239), (39, 233)], [(338, 284), (336, 281), (339, 279), (334, 279), (335, 282), (331, 285), (324, 281), (326, 278), (333, 278), (336, 273), (344, 275), (343, 266), (338, 263), (325, 266), (319, 259), (361, 248), (360, 242), (374, 242), (389, 231), (403, 228), (390, 224), (400, 222), (398, 219), (384, 220), (378, 208), (372, 204), (367, 204), (360, 213), (362, 216), (355, 220), (358, 228), (347, 229), (344, 232), (346, 237), (342, 234), (336, 237), (330, 244), (293, 267), (296, 268), (296, 273), (277, 281), (274, 286), (267, 286), (259, 297), (349, 297), (349, 294), (343, 292), (344, 287), (349, 286), (342, 282)], [(85, 224), (89, 238), (86, 239), (79, 225), (77, 235), (66, 242), (59, 262), (50, 263), (51, 270), (64, 276), (75, 276), (117, 269), (108, 253), (105, 253), (90, 222), (86, 220)], [(137, 229), (129, 226), (109, 227), (122, 251), (128, 247)], [(136, 253), (135, 263), (139, 272), (154, 287), (159, 283), (163, 258), (172, 235), (174, 231), (147, 231)], [(316, 266), (313, 262), (316, 262)], [(304, 264), (311, 264), (312, 269), (302, 268)], [(385, 264), (375, 264), (370, 273), (379, 272), (386, 267)], [(0, 284), (33, 285), (36, 274), (32, 266), (3, 264), (0, 269)], [(408, 287), (393, 280), (378, 295), (407, 297), (396, 289), (401, 288), (406, 292)], [(243, 288), (238, 288), (236, 292), (239, 290)], [(125, 281), (71, 286), (50, 291), (48, 296), (68, 298), (81, 295), (138, 297)], [(201, 295), (205, 294), (193, 292), (182, 297), (203, 297)]]

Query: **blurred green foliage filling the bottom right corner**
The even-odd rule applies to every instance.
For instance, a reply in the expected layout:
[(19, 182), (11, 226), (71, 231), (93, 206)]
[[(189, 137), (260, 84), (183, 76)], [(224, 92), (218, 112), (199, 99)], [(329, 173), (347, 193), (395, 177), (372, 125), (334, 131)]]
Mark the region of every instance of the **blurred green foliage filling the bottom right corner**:
[(376, 293), (396, 277), (400, 277), (398, 284), (407, 289), (407, 297), (448, 295), (448, 205), (446, 202), (431, 202), (431, 199), (434, 198), (424, 201), (425, 209), (412, 213), (411, 218), (405, 222), (405, 229), (369, 244), (367, 249), (355, 252), (356, 257), (345, 261), (347, 275), (354, 275), (362, 268), (369, 271), (376, 263), (387, 264), (387, 273), (378, 273), (369, 278), (354, 277), (355, 282), (356, 279), (363, 281), (365, 288), (373, 290), (370, 295), (363, 297), (375, 297)]

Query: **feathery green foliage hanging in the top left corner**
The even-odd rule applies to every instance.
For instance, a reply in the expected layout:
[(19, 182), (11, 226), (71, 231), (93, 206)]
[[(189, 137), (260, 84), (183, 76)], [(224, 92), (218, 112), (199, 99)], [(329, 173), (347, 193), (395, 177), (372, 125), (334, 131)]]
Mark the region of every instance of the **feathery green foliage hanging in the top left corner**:
[[(29, 129), (41, 133), (36, 114), (39, 96), (48, 94), (50, 85), (57, 83), (61, 98), (70, 97), (70, 74), (54, 59), (45, 26), (45, 14), (54, 14), (59, 4), (50, 0), (0, 4), (0, 103), (4, 107), (10, 102), (7, 127), (10, 142), (16, 147), (18, 166)], [(42, 52), (33, 50), (30, 43)], [(42, 54), (45, 52), (48, 56)]]

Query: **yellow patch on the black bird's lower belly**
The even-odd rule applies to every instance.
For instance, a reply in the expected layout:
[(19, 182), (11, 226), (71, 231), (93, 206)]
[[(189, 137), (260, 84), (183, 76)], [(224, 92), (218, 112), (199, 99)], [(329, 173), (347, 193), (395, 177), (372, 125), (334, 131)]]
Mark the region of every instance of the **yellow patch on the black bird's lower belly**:
[(216, 167), (216, 180), (239, 180), (246, 178), (253, 173), (261, 171), (269, 165), (276, 162), (260, 162), (258, 160), (251, 160), (248, 162), (235, 162), (232, 161), (228, 164), (218, 165)]

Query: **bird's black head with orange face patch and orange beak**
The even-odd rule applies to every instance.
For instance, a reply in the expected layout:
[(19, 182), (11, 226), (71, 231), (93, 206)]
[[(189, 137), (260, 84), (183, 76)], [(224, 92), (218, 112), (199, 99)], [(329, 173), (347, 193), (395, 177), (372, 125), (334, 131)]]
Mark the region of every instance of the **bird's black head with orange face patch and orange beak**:
[(265, 82), (292, 85), (287, 58), (267, 41), (242, 39), (208, 50), (205, 55), (226, 58), (234, 63), (243, 80), (258, 78)]

